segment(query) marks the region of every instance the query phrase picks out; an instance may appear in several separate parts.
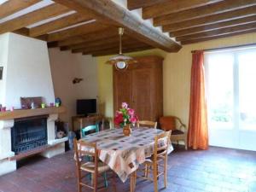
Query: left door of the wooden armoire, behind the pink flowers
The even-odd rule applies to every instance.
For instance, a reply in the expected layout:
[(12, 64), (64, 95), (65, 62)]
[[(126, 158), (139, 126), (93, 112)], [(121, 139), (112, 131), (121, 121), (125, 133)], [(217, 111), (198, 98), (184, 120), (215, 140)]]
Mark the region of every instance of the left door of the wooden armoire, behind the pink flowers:
[(131, 106), (131, 72), (129, 70), (125, 72), (113, 72), (113, 93), (114, 113), (121, 108), (122, 102), (127, 102)]

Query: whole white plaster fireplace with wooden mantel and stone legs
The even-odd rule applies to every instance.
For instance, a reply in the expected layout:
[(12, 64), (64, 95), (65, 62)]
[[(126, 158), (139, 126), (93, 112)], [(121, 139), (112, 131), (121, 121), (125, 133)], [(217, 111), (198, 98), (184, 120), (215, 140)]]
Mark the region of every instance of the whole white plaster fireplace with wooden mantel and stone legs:
[[(9, 110), (21, 108), (20, 97), (42, 96), (44, 102), (55, 102), (54, 88), (49, 67), (47, 44), (34, 38), (26, 38), (14, 33), (0, 35), (0, 103)], [(47, 118), (47, 148), (42, 155), (50, 158), (65, 153), (67, 137), (55, 139), (55, 120), (65, 108), (38, 108), (0, 112), (0, 175), (16, 170), (16, 160), (12, 157), (11, 129), (15, 119), (40, 114)]]

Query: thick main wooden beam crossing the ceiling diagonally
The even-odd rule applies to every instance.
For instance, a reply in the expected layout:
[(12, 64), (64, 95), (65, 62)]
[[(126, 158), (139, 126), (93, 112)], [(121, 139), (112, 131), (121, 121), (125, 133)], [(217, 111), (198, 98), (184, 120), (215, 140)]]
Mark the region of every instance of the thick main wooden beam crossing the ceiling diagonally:
[(146, 21), (138, 19), (131, 11), (113, 3), (112, 0), (55, 0), (55, 2), (61, 3), (81, 14), (85, 14), (90, 9), (96, 15), (96, 20), (107, 18), (115, 26), (125, 27), (126, 32), (145, 44), (150, 44), (169, 52), (177, 52), (181, 49), (180, 44), (177, 44), (172, 38), (153, 26), (148, 26)]

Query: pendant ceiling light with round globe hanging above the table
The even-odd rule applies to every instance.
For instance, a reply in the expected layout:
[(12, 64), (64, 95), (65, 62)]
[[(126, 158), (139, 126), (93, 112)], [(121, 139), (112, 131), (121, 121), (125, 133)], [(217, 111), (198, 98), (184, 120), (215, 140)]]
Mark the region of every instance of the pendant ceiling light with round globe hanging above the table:
[(124, 34), (124, 28), (119, 27), (119, 55), (115, 55), (110, 58), (106, 63), (114, 65), (117, 70), (125, 70), (130, 64), (136, 63), (131, 56), (123, 55), (122, 53), (122, 36)]

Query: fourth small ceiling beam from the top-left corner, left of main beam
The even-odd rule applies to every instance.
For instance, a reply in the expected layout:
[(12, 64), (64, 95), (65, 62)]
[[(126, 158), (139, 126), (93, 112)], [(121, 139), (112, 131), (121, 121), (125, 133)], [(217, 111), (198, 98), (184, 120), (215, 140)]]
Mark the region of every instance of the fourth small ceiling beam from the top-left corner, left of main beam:
[(61, 32), (50, 33), (48, 35), (47, 41), (60, 41), (67, 38), (84, 35), (90, 32), (102, 31), (103, 29), (107, 29), (107, 26), (94, 21), (88, 24), (84, 24), (82, 26), (75, 26), (73, 28), (69, 28)]

